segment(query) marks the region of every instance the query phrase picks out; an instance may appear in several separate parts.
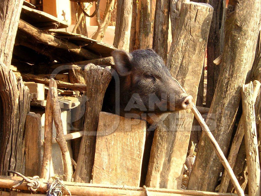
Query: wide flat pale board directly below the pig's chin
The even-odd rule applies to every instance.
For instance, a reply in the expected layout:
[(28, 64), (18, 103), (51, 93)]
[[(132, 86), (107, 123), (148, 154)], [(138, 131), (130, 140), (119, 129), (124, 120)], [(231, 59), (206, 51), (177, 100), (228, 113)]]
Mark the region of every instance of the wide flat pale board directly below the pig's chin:
[(92, 183), (139, 186), (146, 122), (100, 112)]

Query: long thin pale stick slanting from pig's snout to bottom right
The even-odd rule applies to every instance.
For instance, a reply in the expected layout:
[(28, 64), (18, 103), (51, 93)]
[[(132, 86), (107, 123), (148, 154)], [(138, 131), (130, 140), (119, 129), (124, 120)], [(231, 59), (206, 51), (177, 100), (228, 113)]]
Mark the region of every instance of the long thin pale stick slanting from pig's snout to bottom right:
[[(177, 84), (180, 86), (180, 88), (183, 90), (184, 93), (186, 93), (185, 89), (183, 89), (183, 87), (180, 85), (180, 83), (176, 80)], [(187, 93), (186, 93), (187, 94)], [(243, 189), (240, 187), (238, 180), (232, 170), (232, 168), (230, 167), (224, 153), (222, 152), (220, 146), (218, 145), (215, 137), (212, 135), (211, 131), (209, 130), (209, 127), (207, 126), (207, 124), (205, 123), (203, 117), (201, 116), (201, 114), (199, 113), (198, 109), (196, 108), (196, 106), (193, 104), (193, 107), (191, 108), (191, 111), (194, 114), (194, 117), (198, 120), (200, 126), (202, 127), (202, 130), (206, 133), (207, 137), (209, 138), (210, 142), (213, 144), (213, 147), (217, 153), (218, 158), (220, 159), (222, 165), (224, 166), (225, 170), (228, 172), (228, 175), (230, 177), (230, 180), (232, 182), (232, 184), (234, 185), (236, 192), (239, 196), (244, 196), (244, 191)]]

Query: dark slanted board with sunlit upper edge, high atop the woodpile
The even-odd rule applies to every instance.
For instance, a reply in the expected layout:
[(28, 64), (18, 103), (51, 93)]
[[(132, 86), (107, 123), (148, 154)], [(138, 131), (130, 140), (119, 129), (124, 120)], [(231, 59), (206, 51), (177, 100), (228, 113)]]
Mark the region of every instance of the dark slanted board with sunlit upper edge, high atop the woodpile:
[(28, 22), (29, 24), (35, 27), (42, 28), (42, 29), (68, 27), (66, 21), (58, 19), (55, 16), (52, 16), (43, 11), (29, 8), (25, 5), (23, 5), (22, 7), (20, 19)]

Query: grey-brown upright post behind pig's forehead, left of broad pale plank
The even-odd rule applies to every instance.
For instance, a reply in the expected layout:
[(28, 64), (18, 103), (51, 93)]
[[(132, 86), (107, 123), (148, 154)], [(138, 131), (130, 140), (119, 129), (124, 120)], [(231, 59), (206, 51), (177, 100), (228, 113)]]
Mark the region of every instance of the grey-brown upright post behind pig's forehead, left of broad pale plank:
[(169, 0), (156, 1), (152, 48), (165, 63), (168, 53), (169, 9)]

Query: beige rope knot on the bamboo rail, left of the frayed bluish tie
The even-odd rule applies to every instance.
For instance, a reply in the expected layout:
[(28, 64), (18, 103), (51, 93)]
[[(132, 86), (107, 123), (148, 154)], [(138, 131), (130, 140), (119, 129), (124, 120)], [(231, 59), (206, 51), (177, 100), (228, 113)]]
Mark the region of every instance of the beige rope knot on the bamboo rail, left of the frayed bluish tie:
[(24, 181), (27, 182), (26, 186), (29, 191), (36, 192), (36, 190), (40, 187), (40, 181), (37, 180), (39, 176), (34, 176), (34, 177), (25, 177), (24, 175), (20, 174), (19, 172), (13, 171), (13, 170), (7, 170), (9, 173), (16, 174), (17, 176), (20, 176), (23, 178), (19, 183), (16, 185), (12, 186), (13, 189), (21, 185)]

